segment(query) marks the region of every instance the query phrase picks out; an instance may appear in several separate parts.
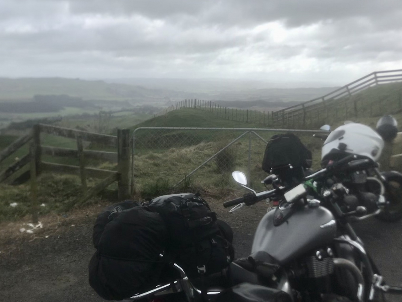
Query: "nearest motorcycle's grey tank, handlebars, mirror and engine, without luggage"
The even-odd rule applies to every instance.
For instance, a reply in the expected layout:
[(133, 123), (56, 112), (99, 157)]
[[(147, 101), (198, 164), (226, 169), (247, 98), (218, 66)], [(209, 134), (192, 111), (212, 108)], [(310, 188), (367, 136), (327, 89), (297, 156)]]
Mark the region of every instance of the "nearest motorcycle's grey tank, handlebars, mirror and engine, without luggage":
[[(402, 288), (384, 284), (364, 243), (351, 227), (351, 221), (371, 216), (367, 209), (356, 203), (357, 196), (342, 183), (325, 181), (336, 180), (338, 171), (359, 171), (372, 164), (351, 155), (285, 192), (281, 204), (258, 224), (251, 255), (234, 261), (234, 281), (244, 282), (247, 276), (251, 284), (286, 292), (293, 302), (363, 302), (373, 301), (385, 292), (402, 294)], [(233, 177), (246, 186), (242, 172), (234, 172)], [(232, 211), (238, 210), (275, 196), (278, 190), (283, 189), (254, 191), (224, 202), (224, 206), (236, 204)]]

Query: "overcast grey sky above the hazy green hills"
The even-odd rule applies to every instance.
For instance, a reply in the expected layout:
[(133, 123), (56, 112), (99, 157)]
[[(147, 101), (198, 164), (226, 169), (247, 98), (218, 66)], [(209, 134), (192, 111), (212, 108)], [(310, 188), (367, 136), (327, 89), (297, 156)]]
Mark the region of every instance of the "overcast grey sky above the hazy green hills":
[(0, 0), (0, 76), (338, 85), (402, 68), (401, 0)]

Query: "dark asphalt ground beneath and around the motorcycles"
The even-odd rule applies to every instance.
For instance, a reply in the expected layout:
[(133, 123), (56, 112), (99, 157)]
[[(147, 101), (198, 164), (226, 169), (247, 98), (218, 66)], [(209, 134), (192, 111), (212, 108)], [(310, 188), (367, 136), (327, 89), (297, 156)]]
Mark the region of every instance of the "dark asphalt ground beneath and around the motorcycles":
[[(219, 216), (233, 221), (237, 257), (250, 252), (263, 204), (244, 208), (236, 214), (219, 210)], [(4, 302), (100, 302), (88, 284), (88, 262), (92, 246), (93, 217), (66, 220), (56, 233), (7, 242), (15, 246), (11, 253), (0, 253), (0, 301)], [(385, 223), (375, 218), (355, 225), (388, 284), (402, 284), (402, 222)], [(49, 235), (49, 237), (45, 237)], [(35, 239), (35, 240), (34, 240)], [(0, 246), (0, 250), (3, 247)], [(393, 296), (389, 301), (402, 301)]]

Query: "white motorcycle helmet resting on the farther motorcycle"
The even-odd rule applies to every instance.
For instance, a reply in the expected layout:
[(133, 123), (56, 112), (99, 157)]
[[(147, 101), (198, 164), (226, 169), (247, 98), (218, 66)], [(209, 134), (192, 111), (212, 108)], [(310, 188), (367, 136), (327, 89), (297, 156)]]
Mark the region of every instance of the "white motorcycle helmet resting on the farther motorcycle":
[(347, 123), (336, 128), (328, 135), (321, 149), (321, 162), (339, 160), (350, 154), (368, 157), (377, 161), (384, 148), (381, 136), (369, 126), (359, 123)]

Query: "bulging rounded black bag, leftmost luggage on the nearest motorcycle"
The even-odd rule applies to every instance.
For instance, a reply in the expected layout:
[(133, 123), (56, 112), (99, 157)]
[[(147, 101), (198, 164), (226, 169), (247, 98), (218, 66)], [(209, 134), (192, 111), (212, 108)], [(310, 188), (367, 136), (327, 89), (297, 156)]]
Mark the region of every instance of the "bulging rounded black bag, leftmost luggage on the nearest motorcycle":
[(99, 296), (123, 300), (158, 284), (167, 239), (158, 213), (135, 202), (114, 205), (98, 216), (93, 239), (89, 284)]

